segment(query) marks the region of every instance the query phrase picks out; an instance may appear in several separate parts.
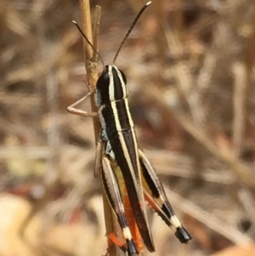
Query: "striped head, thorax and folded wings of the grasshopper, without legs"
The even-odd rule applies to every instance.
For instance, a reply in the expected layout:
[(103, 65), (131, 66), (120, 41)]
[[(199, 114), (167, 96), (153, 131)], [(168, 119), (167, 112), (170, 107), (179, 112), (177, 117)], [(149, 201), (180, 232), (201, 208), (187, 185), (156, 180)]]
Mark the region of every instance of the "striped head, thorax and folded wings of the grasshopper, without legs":
[(133, 216), (146, 247), (153, 252), (154, 244), (147, 229), (149, 223), (144, 205), (137, 139), (127, 102), (127, 79), (114, 65), (106, 65), (101, 77), (97, 82), (95, 101), (99, 106), (105, 154), (111, 156), (122, 171), (127, 195), (132, 198)]

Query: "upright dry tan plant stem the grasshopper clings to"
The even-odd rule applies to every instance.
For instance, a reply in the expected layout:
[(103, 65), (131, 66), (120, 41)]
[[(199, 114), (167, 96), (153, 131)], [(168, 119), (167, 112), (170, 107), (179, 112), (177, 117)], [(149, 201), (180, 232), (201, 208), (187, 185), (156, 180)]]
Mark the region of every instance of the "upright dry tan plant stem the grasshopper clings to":
[[(80, 6), (81, 6), (81, 12), (82, 12), (82, 29), (85, 31), (85, 34), (87, 35), (90, 42), (92, 42), (92, 38), (94, 41), (92, 42), (95, 48), (97, 48), (98, 45), (98, 35), (99, 35), (99, 20), (100, 20), (100, 8), (98, 7), (96, 9), (96, 15), (95, 15), (95, 21), (94, 21), (94, 36), (92, 33), (92, 25), (91, 25), (91, 15), (90, 15), (90, 4), (89, 0), (80, 0)], [(94, 50), (91, 48), (91, 46), (83, 39), (83, 48), (84, 48), (84, 55), (85, 55), (85, 68), (87, 71), (89, 86), (92, 91), (94, 91), (96, 82), (98, 80), (98, 73), (96, 71), (96, 60), (98, 58), (97, 54), (94, 54)], [(92, 96), (90, 98), (91, 100), (91, 109), (92, 111), (98, 111), (97, 107), (94, 102), (94, 97)], [(98, 118), (94, 117), (94, 134), (95, 134), (95, 143), (97, 143), (99, 139), (99, 120)], [(102, 190), (104, 191), (104, 190)], [(109, 203), (107, 202), (107, 199), (105, 197), (105, 194), (103, 192), (103, 202), (104, 202), (104, 210), (105, 210), (105, 228), (106, 228), (106, 234), (110, 234), (111, 232), (116, 233), (115, 223), (112, 215), (111, 208), (109, 206)], [(109, 251), (109, 256), (115, 256), (116, 255), (116, 249), (113, 247)]]

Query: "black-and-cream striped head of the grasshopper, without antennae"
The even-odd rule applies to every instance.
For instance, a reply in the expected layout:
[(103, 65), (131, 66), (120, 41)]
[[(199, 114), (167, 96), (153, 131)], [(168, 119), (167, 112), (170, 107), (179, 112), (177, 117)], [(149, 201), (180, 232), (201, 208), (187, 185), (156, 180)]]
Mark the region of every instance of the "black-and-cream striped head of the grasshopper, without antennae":
[(127, 98), (127, 78), (115, 65), (105, 65), (95, 89), (95, 103), (99, 107)]

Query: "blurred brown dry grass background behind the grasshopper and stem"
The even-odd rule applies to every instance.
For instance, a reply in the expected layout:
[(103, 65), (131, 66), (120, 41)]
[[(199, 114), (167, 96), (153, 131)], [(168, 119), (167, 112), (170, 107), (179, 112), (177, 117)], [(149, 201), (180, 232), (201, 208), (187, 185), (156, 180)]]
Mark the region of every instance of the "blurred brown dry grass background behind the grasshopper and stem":
[[(105, 64), (144, 3), (91, 1)], [(93, 123), (66, 111), (88, 93), (80, 17), (73, 0), (0, 2), (0, 255), (106, 253)], [(122, 48), (139, 146), (193, 236), (149, 209), (154, 255), (255, 255), (254, 60), (252, 0), (155, 0)]]

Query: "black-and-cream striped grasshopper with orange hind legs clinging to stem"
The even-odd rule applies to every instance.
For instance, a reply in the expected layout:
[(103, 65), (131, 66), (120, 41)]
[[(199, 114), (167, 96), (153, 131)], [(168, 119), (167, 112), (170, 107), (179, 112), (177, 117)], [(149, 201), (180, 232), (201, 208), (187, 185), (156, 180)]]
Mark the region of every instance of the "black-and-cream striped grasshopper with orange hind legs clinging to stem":
[[(150, 3), (146, 3), (137, 14), (116, 52), (113, 63), (139, 16)], [(81, 28), (77, 28), (94, 48)], [(94, 50), (96, 51), (95, 48)], [(98, 54), (97, 51), (96, 53)], [(150, 252), (155, 251), (144, 199), (161, 219), (174, 229), (175, 236), (180, 242), (188, 242), (191, 236), (173, 212), (155, 169), (144, 152), (139, 149), (127, 101), (126, 84), (127, 77), (116, 65), (105, 65), (95, 90), (91, 90), (67, 110), (79, 116), (99, 118), (101, 131), (97, 143), (94, 174), (100, 175), (105, 195), (122, 229), (126, 245), (122, 245), (115, 234), (110, 234), (109, 238), (127, 255), (139, 255), (142, 252), (141, 240)], [(97, 112), (76, 108), (92, 94), (98, 108)]]

